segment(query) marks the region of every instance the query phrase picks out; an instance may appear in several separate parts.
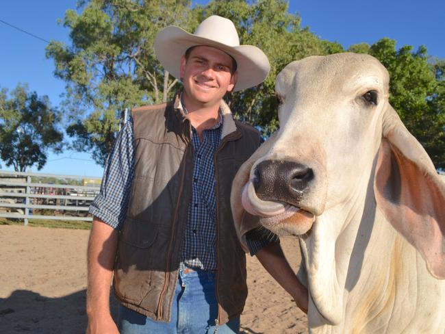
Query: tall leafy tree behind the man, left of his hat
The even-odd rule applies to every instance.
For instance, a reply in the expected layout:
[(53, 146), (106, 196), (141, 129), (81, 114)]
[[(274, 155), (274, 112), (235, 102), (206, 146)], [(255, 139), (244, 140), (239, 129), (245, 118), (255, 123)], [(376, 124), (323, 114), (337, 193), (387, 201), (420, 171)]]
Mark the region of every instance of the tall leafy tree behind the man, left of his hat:
[(160, 103), (171, 97), (177, 80), (157, 62), (156, 32), (167, 25), (194, 30), (198, 24), (188, 0), (81, 1), (81, 14), (67, 10), (71, 46), (52, 41), (47, 57), (55, 76), (66, 82), (66, 129), (73, 148), (91, 150), (105, 164), (125, 108)]

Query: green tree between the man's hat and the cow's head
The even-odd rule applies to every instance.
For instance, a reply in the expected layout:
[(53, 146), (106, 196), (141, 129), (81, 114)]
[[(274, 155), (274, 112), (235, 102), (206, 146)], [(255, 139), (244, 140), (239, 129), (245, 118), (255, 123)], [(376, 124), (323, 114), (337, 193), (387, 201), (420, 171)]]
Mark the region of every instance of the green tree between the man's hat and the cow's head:
[(214, 0), (203, 8), (201, 20), (217, 14), (235, 23), (241, 44), (256, 45), (270, 61), (270, 73), (256, 87), (229, 94), (227, 101), (236, 118), (262, 129), (268, 136), (278, 127), (275, 78), (290, 62), (309, 55), (343, 51), (340, 44), (321, 40), (301, 27), (298, 14), (288, 12), (285, 0)]

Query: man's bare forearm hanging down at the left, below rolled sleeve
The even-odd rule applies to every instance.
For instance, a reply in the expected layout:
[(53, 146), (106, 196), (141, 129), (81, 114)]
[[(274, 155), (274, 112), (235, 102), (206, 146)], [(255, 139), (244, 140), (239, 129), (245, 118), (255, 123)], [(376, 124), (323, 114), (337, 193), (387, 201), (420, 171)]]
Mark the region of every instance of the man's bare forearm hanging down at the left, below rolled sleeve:
[(87, 334), (119, 333), (110, 313), (118, 231), (94, 217), (88, 240)]

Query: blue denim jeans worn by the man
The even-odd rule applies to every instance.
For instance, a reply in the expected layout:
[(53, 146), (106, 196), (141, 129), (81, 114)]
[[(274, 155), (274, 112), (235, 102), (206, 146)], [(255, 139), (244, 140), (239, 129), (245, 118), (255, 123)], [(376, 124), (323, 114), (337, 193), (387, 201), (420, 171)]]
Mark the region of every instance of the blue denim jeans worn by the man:
[(215, 274), (204, 270), (180, 270), (171, 310), (170, 322), (158, 322), (119, 307), (118, 325), (121, 334), (229, 334), (240, 330), (240, 317), (216, 326), (218, 301), (215, 295)]

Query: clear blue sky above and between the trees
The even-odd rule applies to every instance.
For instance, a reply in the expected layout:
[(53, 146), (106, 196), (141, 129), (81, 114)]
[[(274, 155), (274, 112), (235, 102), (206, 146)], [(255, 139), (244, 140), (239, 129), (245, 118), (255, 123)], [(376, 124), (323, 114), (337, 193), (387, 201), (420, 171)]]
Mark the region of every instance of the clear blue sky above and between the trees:
[[(198, 1), (206, 3), (207, 1)], [(0, 2), (0, 20), (29, 31), (44, 40), (68, 43), (68, 29), (58, 25), (67, 9), (75, 8), (75, 0), (14, 0)], [(290, 12), (301, 15), (303, 27), (308, 26), (320, 38), (351, 44), (372, 44), (383, 37), (417, 49), (425, 45), (429, 55), (445, 58), (444, 0), (302, 0), (290, 1)], [(53, 62), (44, 57), (46, 43), (0, 22), (0, 87), (10, 90), (28, 83), (31, 91), (48, 95), (58, 106), (64, 82), (53, 77)], [(3, 169), (4, 163), (1, 163)], [(36, 168), (32, 168), (36, 171)], [(62, 175), (101, 176), (102, 168), (88, 153), (66, 151), (49, 155), (40, 172)]]

